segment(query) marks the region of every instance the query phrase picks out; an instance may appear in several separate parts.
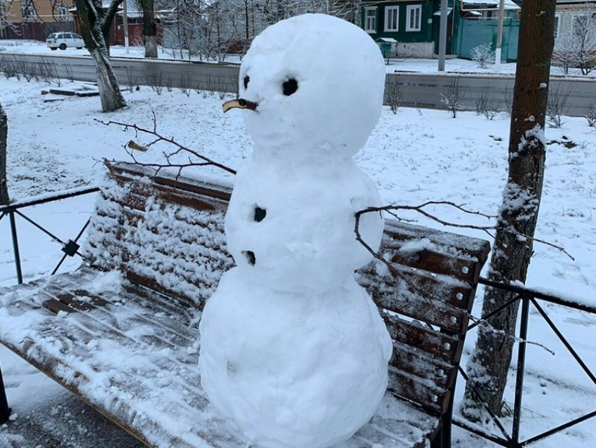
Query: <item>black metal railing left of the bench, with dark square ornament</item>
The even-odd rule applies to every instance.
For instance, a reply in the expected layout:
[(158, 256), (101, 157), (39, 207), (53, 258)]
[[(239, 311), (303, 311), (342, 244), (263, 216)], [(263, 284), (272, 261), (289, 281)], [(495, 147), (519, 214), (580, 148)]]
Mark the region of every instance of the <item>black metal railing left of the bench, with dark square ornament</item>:
[(22, 210), (27, 209), (28, 207), (32, 207), (32, 206), (36, 206), (36, 205), (40, 205), (40, 204), (48, 204), (49, 202), (56, 202), (56, 201), (60, 201), (62, 199), (69, 199), (69, 198), (77, 197), (77, 196), (81, 196), (81, 195), (88, 195), (90, 193), (95, 193), (98, 191), (100, 191), (99, 187), (75, 188), (73, 190), (57, 192), (53, 195), (44, 195), (43, 197), (27, 199), (25, 201), (14, 202), (13, 204), (0, 206), (0, 221), (3, 218), (5, 218), (6, 216), (8, 216), (8, 220), (10, 221), (10, 225), (11, 225), (11, 239), (13, 242), (13, 255), (15, 258), (15, 269), (16, 269), (17, 282), (19, 284), (22, 283), (22, 265), (21, 265), (19, 239), (18, 239), (17, 223), (15, 220), (15, 216), (19, 216), (20, 218), (27, 221), (27, 223), (33, 225), (34, 228), (36, 228), (37, 230), (48, 235), (55, 242), (59, 242), (60, 244), (62, 244), (62, 252), (63, 252), (62, 258), (60, 258), (60, 261), (58, 261), (57, 265), (52, 270), (51, 275), (54, 275), (57, 272), (57, 270), (60, 268), (62, 263), (64, 263), (67, 256), (75, 256), (75, 255), (81, 256), (81, 253), (79, 253), (78, 241), (79, 241), (79, 238), (81, 238), (81, 236), (83, 235), (83, 232), (85, 232), (85, 229), (87, 228), (87, 225), (89, 224), (89, 220), (87, 220), (85, 225), (83, 225), (83, 228), (81, 228), (81, 231), (79, 232), (78, 235), (76, 235), (76, 237), (74, 239), (69, 239), (67, 242), (65, 242), (65, 241), (62, 241), (62, 239), (58, 238), (56, 235), (54, 235), (52, 232), (50, 232), (49, 230), (44, 228), (42, 225), (37, 223), (35, 220), (33, 220), (32, 218), (29, 218), (29, 216), (25, 215), (25, 213), (23, 213)]

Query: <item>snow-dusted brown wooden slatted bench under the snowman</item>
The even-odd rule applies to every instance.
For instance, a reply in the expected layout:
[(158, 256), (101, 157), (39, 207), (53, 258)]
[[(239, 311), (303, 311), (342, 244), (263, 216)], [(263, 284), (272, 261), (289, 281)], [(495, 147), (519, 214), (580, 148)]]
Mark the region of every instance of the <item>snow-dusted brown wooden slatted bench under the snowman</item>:
[[(111, 167), (76, 272), (0, 289), (0, 342), (150, 447), (245, 447), (201, 390), (198, 320), (231, 268), (231, 188)], [(395, 340), (389, 390), (341, 447), (421, 448), (441, 437), (468, 312), (487, 258), (481, 239), (388, 221), (358, 279)], [(446, 445), (443, 445), (446, 446)]]

